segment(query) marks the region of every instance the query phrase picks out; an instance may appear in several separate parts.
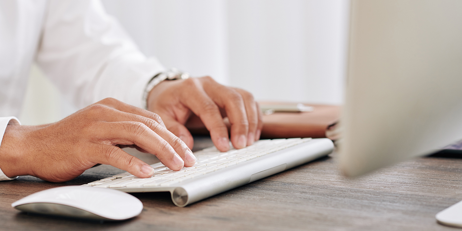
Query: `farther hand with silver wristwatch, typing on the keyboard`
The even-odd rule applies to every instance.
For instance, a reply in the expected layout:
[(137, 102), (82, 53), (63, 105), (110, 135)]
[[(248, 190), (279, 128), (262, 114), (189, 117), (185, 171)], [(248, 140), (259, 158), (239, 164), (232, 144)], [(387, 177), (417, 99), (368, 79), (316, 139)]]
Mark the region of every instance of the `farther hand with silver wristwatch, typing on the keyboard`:
[(185, 124), (196, 116), (210, 131), (213, 144), (222, 152), (229, 150), (224, 117), (228, 117), (231, 123), (231, 143), (235, 148), (259, 140), (263, 127), (261, 112), (252, 94), (220, 85), (208, 76), (164, 80), (151, 90), (147, 105), (148, 110), (157, 113), (166, 128), (189, 148), (194, 142)]

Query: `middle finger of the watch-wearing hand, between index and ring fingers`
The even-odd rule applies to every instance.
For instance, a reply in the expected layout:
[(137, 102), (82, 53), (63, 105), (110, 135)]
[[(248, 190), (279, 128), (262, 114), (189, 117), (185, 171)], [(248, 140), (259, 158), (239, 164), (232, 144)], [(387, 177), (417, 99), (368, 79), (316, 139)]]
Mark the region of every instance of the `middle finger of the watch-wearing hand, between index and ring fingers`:
[(204, 81), (204, 90), (219, 107), (224, 108), (231, 124), (231, 143), (237, 149), (247, 146), (249, 121), (244, 100), (236, 90), (213, 79)]

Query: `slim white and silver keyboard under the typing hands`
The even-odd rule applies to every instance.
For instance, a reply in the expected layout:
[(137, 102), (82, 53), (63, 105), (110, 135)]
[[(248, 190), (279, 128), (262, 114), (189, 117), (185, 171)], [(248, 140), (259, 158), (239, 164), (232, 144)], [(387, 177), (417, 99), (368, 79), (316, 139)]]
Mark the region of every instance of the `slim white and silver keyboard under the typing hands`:
[(173, 171), (162, 163), (152, 164), (154, 175), (139, 178), (128, 172), (82, 186), (114, 188), (124, 192), (170, 191), (179, 207), (273, 175), (328, 155), (334, 146), (329, 139), (293, 138), (259, 140), (243, 149), (219, 152), (209, 147), (194, 152), (192, 167)]

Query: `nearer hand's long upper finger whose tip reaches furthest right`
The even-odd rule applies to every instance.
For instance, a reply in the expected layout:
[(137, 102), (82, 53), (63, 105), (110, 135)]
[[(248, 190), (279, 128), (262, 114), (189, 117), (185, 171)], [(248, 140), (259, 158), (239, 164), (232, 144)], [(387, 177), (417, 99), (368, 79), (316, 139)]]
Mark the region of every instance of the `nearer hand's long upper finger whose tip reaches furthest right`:
[[(174, 134), (169, 132), (165, 125), (160, 125), (157, 121), (147, 118), (144, 116), (119, 111), (114, 108), (108, 107), (104, 111), (104, 119), (107, 122), (120, 122), (120, 121), (127, 121), (127, 122), (141, 122), (145, 124), (148, 128), (150, 128), (154, 133), (158, 134), (162, 139), (166, 140), (170, 146), (173, 147), (175, 152), (182, 158), (184, 166), (190, 167), (195, 164), (195, 156), (193, 152), (188, 148), (188, 146), (176, 137)], [(157, 114), (155, 114), (158, 116)], [(159, 117), (160, 118), (160, 117)], [(191, 138), (192, 139), (192, 138)], [(143, 147), (142, 147), (143, 148)], [(143, 148), (144, 149), (144, 148)], [(145, 149), (146, 150), (146, 149)], [(146, 150), (148, 151), (148, 150)], [(149, 151), (148, 151), (149, 152)], [(152, 152), (150, 152), (152, 153)], [(153, 153), (154, 154), (154, 153)]]

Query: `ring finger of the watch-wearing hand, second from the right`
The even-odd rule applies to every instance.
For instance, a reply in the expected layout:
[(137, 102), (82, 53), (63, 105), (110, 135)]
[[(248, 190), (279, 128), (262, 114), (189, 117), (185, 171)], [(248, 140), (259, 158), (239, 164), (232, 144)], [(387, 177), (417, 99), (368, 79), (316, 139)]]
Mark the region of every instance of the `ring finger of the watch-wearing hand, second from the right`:
[(239, 88), (233, 88), (239, 94), (241, 94), (245, 111), (247, 112), (247, 120), (249, 121), (249, 132), (247, 134), (247, 146), (252, 145), (255, 141), (256, 131), (258, 127), (258, 111), (257, 105), (255, 104), (254, 97), (248, 91), (244, 91)]

